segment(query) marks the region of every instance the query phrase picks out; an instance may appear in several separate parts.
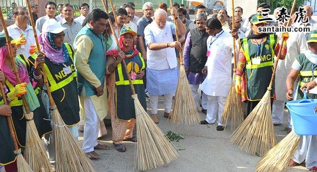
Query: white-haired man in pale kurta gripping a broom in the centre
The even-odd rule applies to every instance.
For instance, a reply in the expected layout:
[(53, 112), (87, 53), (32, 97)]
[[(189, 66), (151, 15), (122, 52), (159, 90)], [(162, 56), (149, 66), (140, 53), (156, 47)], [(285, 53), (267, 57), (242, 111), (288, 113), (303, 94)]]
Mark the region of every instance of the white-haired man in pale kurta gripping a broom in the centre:
[[(171, 14), (176, 20), (179, 35), (184, 35), (186, 27), (177, 18), (175, 8)], [(173, 41), (175, 25), (166, 21), (167, 13), (163, 9), (154, 12), (154, 22), (145, 27), (145, 43), (147, 48), (147, 90), (152, 108), (152, 120), (157, 124), (157, 102), (159, 96), (164, 95), (165, 112), (164, 117), (170, 117), (172, 98), (175, 95), (178, 81), (178, 67), (175, 55), (175, 48), (180, 49), (181, 44)]]

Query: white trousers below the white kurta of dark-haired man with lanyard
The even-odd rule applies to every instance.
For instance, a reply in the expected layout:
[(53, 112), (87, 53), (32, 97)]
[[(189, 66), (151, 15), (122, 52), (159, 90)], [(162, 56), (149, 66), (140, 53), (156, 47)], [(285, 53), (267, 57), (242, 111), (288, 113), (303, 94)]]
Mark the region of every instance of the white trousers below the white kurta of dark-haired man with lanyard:
[(221, 113), (223, 111), (225, 99), (227, 97), (223, 96), (209, 96), (208, 95), (208, 102), (207, 102), (207, 117), (206, 121), (209, 124), (213, 124), (217, 120), (218, 114), (218, 125), (221, 125)]

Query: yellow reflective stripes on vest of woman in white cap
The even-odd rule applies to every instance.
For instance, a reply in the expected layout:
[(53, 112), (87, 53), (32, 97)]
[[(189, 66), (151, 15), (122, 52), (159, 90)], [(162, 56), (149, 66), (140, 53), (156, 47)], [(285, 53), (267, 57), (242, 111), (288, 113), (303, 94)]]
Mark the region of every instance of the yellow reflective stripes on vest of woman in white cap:
[[(72, 51), (71, 46), (69, 44), (66, 44), (66, 43), (65, 43), (65, 46), (67, 48), (67, 51), (70, 54), (71, 60), (73, 61), (73, 51)], [(37, 54), (34, 53), (34, 54), (31, 55), (31, 57), (35, 60), (36, 57), (37, 57)], [(48, 80), (50, 82), (50, 85), (51, 85), (51, 87), (50, 87), (51, 92), (54, 92), (56, 90), (59, 90), (59, 89), (63, 88), (65, 85), (71, 83), (74, 80), (74, 78), (77, 76), (76, 72), (73, 72), (73, 74), (70, 75), (69, 77), (67, 77), (66, 79), (56, 83), (55, 79), (53, 78), (53, 75), (52, 75), (51, 71), (49, 70), (49, 68), (48, 68), (48, 66), (46, 64), (44, 64), (44, 68), (45, 68), (45, 72), (46, 72), (46, 75), (48, 77)]]

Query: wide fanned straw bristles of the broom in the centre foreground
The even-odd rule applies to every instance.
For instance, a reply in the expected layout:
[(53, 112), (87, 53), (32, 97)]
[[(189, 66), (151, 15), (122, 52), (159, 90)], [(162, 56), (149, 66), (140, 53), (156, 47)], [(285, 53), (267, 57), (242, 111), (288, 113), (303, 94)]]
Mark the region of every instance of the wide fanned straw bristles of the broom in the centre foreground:
[(134, 167), (143, 171), (175, 160), (178, 157), (175, 147), (144, 110), (138, 96), (135, 94), (132, 95), (132, 98), (134, 99), (138, 135)]

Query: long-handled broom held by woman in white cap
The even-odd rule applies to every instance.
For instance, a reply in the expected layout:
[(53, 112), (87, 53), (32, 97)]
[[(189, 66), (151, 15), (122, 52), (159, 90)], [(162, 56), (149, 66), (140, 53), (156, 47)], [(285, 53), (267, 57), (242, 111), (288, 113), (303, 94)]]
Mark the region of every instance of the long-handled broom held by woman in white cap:
[[(33, 27), (33, 34), (35, 38), (36, 47), (40, 54), (40, 47), (37, 40), (36, 28), (31, 13), (31, 4), (26, 0), (27, 7), (30, 14), (30, 20)], [(82, 149), (78, 146), (71, 131), (67, 128), (62, 120), (58, 109), (53, 100), (48, 78), (46, 76), (44, 65), (41, 66), (44, 84), (47, 88), (47, 93), (50, 99), (52, 117), (53, 117), (53, 133), (55, 140), (55, 168), (57, 171), (96, 171), (92, 161), (88, 159)]]

